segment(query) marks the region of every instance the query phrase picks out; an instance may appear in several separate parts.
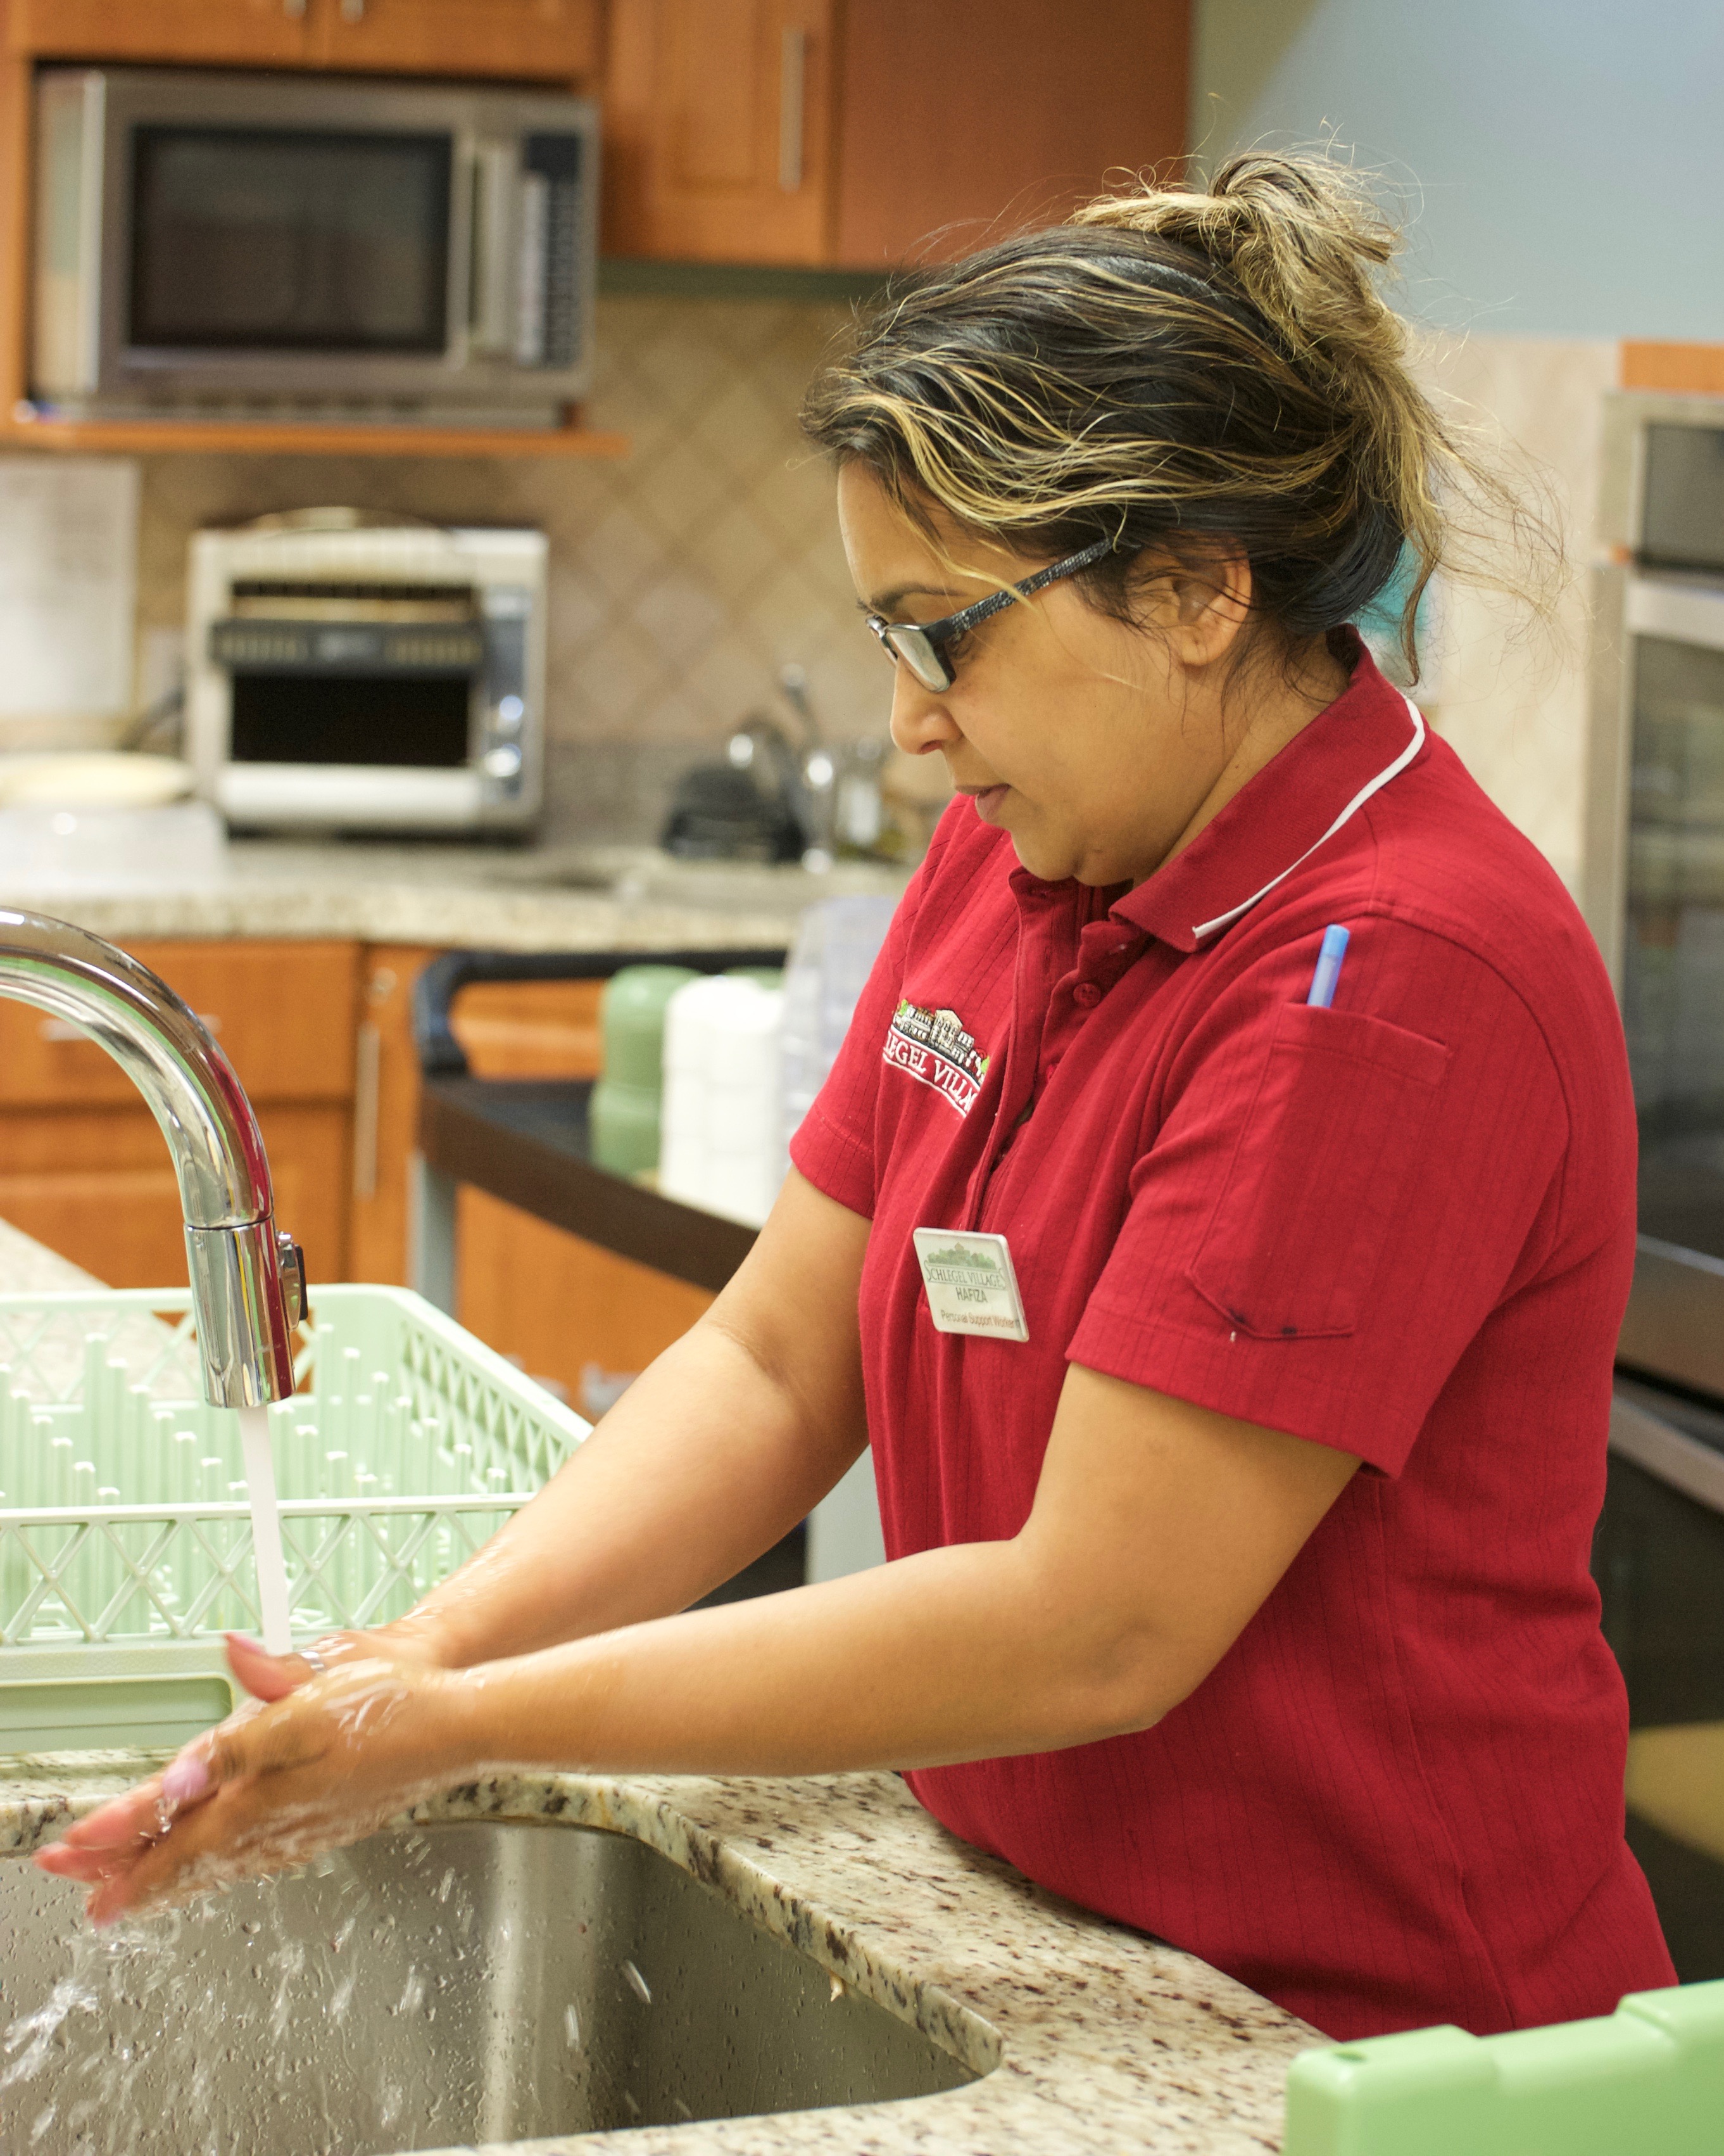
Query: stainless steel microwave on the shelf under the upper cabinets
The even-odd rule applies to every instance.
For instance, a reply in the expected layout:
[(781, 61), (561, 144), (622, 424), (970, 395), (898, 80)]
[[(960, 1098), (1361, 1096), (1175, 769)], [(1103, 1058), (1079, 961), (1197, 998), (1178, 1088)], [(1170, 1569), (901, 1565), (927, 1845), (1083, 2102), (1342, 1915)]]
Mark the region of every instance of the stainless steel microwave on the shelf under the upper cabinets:
[(34, 97), (43, 410), (560, 425), (586, 392), (593, 103), (147, 67)]

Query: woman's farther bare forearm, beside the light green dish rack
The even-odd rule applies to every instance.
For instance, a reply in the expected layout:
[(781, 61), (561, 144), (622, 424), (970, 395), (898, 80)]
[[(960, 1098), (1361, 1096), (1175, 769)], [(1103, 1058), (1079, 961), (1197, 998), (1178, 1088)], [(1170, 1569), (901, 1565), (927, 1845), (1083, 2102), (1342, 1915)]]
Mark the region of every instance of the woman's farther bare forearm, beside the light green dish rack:
[(722, 1322), (694, 1326), (390, 1630), (465, 1669), (687, 1608), (806, 1518), (860, 1453), (860, 1399), (812, 1408)]

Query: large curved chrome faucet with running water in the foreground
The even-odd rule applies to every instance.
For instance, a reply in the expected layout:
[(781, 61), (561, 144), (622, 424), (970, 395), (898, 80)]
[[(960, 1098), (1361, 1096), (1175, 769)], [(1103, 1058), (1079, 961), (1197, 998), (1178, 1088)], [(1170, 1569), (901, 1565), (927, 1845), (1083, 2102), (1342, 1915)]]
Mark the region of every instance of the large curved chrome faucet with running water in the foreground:
[(162, 1125), (185, 1216), (205, 1399), (211, 1408), (287, 1399), (306, 1261), (276, 1231), (252, 1104), (196, 1011), (99, 936), (11, 910), (0, 910), (0, 996), (88, 1033)]

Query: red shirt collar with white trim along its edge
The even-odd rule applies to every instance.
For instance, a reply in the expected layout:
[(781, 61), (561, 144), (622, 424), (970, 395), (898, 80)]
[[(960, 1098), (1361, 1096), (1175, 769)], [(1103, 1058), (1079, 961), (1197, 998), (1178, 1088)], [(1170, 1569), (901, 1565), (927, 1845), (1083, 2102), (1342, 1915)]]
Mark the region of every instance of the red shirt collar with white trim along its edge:
[(1116, 899), (1114, 921), (1177, 951), (1205, 949), (1418, 759), (1424, 720), (1353, 642), (1353, 677), (1336, 701), (1177, 860)]

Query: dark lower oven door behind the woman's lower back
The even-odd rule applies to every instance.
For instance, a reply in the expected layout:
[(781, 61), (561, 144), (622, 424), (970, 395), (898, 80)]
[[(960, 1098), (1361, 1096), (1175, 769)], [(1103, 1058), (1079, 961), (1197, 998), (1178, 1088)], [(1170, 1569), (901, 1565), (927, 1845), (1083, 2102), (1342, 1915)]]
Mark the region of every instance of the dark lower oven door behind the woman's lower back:
[(1618, 1382), (1593, 1572), (1629, 1688), (1629, 1848), (1683, 1984), (1724, 1977), (1724, 1414)]

